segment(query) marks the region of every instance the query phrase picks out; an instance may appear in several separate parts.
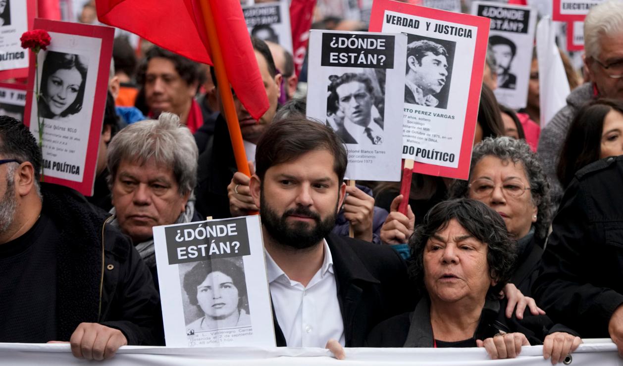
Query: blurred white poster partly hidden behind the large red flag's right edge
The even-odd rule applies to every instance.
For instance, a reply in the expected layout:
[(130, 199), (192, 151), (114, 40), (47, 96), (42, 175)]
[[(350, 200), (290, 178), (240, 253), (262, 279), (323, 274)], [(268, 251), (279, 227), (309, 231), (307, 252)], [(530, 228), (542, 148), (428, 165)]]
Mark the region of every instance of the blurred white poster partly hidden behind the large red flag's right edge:
[(252, 36), (280, 44), (292, 54), (290, 6), (287, 0), (244, 6), (242, 12)]

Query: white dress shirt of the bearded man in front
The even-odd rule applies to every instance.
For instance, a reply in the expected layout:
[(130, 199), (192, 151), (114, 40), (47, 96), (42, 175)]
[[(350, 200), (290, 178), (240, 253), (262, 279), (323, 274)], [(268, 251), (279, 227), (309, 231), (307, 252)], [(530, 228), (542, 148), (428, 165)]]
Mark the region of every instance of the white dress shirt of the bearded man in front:
[(269, 253), (264, 251), (270, 295), (277, 323), (288, 347), (325, 348), (329, 339), (345, 344), (333, 258), (326, 240), (323, 243), (325, 255), (322, 266), (307, 287), (288, 278)]

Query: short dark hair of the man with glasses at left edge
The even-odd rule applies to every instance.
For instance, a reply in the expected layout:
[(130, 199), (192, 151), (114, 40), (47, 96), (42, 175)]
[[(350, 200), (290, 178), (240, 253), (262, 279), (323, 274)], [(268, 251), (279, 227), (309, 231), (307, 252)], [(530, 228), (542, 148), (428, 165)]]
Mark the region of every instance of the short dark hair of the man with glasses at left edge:
[(37, 141), (25, 124), (9, 116), (0, 116), (0, 156), (31, 162), (38, 184), (41, 172), (41, 152)]

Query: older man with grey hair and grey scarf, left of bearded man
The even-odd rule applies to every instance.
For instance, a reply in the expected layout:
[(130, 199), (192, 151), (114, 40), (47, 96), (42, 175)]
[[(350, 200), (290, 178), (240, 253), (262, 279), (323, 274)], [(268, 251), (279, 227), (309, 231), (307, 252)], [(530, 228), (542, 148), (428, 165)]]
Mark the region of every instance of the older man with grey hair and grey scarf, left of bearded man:
[(122, 129), (108, 146), (113, 225), (132, 238), (156, 288), (152, 227), (202, 220), (194, 209), (197, 146), (173, 113)]

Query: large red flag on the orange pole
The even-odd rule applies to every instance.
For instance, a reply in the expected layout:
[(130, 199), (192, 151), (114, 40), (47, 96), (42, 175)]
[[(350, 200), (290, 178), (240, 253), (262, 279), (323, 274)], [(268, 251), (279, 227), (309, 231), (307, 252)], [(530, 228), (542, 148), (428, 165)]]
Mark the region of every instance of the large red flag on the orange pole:
[[(213, 65), (199, 0), (97, 0), (100, 22), (115, 26), (164, 49)], [(258, 120), (269, 108), (239, 1), (214, 1), (214, 22), (237, 98)]]

